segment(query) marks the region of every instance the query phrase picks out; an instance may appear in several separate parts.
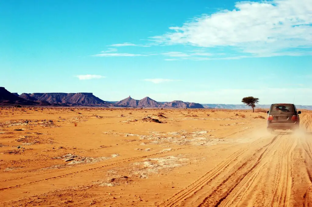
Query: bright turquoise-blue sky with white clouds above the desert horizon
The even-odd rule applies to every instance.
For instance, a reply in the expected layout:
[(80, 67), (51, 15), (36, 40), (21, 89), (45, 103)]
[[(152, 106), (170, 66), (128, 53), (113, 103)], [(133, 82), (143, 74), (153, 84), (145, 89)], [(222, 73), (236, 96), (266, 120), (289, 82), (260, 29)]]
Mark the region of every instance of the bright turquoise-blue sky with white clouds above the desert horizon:
[(0, 86), (312, 105), (312, 1), (0, 1)]

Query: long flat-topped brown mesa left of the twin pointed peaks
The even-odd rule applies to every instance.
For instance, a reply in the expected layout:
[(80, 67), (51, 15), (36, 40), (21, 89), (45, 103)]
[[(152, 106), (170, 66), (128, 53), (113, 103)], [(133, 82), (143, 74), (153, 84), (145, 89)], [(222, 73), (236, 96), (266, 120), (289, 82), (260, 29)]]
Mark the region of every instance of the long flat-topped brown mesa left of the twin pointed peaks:
[[(23, 94), (27, 96), (27, 94)], [(32, 93), (29, 99), (46, 101), (51, 105), (68, 106), (112, 106), (111, 103), (101, 100), (92, 93)]]

